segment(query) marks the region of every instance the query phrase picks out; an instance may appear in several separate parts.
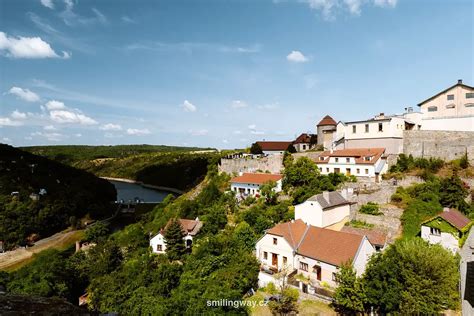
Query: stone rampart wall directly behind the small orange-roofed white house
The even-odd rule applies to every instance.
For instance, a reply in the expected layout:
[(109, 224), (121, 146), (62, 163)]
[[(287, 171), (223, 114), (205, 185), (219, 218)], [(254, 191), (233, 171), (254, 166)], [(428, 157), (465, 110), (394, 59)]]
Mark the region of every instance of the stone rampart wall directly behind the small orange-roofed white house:
[(280, 173), (283, 170), (283, 155), (269, 155), (266, 157), (252, 158), (222, 158), (219, 162), (219, 172), (229, 174), (239, 172), (263, 172)]

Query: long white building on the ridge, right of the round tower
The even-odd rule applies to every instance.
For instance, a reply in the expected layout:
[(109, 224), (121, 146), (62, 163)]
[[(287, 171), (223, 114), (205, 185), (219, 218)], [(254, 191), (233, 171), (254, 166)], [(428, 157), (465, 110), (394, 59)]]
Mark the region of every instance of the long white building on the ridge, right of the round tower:
[(420, 129), (420, 118), (414, 112), (404, 115), (380, 113), (368, 120), (339, 122), (333, 148), (384, 147), (387, 154), (400, 154), (403, 152), (403, 131)]

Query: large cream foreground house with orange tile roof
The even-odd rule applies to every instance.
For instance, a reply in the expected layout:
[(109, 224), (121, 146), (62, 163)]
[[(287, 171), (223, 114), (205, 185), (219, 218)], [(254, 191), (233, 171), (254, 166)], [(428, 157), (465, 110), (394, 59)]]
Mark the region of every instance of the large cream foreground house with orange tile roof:
[(274, 226), (256, 245), (263, 271), (260, 281), (269, 280), (264, 271), (286, 271), (290, 278), (299, 276), (295, 280), (307, 293), (323, 285), (337, 286), (336, 273), (345, 263), (351, 263), (357, 275), (362, 275), (374, 253), (366, 236), (315, 227), (301, 219)]

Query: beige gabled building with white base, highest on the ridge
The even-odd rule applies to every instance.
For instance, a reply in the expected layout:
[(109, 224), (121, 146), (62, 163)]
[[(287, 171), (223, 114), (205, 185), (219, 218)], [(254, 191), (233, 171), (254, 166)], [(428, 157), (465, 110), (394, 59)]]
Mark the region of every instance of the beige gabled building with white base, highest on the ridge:
[(422, 130), (474, 131), (474, 87), (462, 80), (418, 106)]

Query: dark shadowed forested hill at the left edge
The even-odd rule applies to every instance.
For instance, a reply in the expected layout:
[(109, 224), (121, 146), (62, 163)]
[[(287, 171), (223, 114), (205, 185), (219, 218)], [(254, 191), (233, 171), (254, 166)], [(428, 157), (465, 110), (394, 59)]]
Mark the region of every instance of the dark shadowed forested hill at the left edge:
[(91, 173), (0, 144), (0, 241), (46, 237), (86, 215), (110, 216), (115, 187)]

